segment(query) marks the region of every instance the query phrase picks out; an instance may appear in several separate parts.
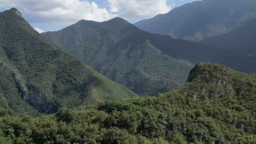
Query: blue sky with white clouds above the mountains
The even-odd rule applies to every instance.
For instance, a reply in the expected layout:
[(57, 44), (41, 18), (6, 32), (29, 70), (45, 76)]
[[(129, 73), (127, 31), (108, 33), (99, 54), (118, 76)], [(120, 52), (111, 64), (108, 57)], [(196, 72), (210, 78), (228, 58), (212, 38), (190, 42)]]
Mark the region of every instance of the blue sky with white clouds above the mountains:
[(39, 33), (78, 22), (121, 17), (128, 22), (152, 18), (194, 0), (0, 0), (0, 12), (17, 8)]

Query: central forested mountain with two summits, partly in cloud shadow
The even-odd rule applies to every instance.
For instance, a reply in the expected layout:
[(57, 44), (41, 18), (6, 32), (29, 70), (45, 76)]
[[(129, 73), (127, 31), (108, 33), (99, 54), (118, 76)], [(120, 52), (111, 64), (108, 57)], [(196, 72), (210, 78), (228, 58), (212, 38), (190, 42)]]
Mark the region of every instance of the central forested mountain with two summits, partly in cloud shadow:
[(212, 46), (150, 34), (122, 18), (106, 22), (80, 20), (41, 35), (142, 96), (178, 88), (186, 81), (191, 63), (208, 62), (215, 50)]

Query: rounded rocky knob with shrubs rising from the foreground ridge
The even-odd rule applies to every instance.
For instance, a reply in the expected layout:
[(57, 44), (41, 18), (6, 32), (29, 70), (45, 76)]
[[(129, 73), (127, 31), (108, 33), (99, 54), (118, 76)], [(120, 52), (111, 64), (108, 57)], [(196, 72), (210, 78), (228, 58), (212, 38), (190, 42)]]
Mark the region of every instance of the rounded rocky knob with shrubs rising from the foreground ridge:
[[(198, 63), (190, 71), (187, 82), (186, 95), (194, 100), (208, 102), (211, 97), (225, 98), (234, 95), (231, 70), (225, 66)], [(194, 88), (196, 90), (190, 90)]]

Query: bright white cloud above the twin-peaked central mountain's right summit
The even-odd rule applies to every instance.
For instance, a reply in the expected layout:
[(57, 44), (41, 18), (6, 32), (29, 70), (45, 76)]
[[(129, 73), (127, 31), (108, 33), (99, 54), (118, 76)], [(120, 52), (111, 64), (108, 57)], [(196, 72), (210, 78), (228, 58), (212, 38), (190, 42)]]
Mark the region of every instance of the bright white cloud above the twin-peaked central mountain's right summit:
[(171, 10), (166, 0), (108, 0), (110, 12), (119, 12), (124, 18), (150, 18)]

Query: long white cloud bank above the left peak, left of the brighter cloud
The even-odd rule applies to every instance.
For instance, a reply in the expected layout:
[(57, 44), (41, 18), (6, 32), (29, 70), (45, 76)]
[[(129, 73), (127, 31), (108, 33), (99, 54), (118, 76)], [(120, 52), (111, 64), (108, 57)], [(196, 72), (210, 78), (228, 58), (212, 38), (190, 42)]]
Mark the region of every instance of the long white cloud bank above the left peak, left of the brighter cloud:
[(80, 0), (0, 0), (0, 7), (17, 8), (29, 22), (102, 22), (115, 16), (95, 2)]

